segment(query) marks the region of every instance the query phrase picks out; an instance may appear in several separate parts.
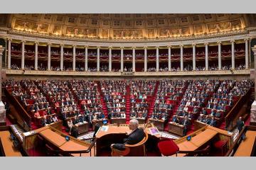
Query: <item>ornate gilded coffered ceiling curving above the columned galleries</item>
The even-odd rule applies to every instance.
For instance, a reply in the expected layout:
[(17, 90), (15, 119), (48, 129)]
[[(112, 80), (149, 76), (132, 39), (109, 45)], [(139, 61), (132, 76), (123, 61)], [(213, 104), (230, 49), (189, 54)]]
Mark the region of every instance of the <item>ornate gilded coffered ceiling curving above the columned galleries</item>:
[(244, 30), (255, 14), (1, 14), (0, 26), (26, 33), (92, 39), (151, 39)]

